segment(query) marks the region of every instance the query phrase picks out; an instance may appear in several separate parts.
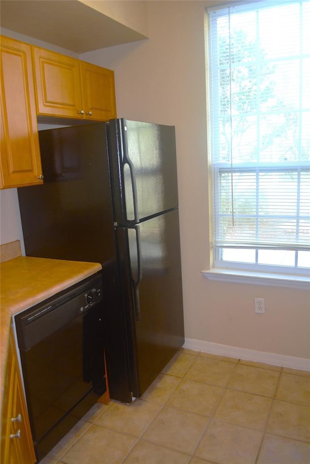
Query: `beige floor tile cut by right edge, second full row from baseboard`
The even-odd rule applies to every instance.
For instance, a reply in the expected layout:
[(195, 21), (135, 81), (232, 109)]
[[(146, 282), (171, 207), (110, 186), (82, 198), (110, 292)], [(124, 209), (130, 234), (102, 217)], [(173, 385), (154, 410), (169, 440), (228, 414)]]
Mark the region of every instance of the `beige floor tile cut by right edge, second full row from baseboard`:
[(275, 400), (266, 431), (296, 440), (310, 441), (310, 406)]

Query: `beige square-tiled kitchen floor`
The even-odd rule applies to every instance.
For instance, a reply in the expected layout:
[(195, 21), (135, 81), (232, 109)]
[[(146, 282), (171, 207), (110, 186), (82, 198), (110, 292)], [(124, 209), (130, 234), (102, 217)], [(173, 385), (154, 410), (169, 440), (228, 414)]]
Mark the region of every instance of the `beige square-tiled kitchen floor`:
[(310, 372), (180, 350), (131, 404), (95, 404), (41, 464), (310, 464)]

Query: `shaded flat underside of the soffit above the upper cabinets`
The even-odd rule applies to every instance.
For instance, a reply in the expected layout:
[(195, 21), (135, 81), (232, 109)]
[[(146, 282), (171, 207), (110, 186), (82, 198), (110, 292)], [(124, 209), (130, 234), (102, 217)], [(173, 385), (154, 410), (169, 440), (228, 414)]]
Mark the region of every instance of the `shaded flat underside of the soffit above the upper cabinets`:
[(78, 54), (147, 38), (78, 0), (1, 0), (0, 14), (2, 28)]

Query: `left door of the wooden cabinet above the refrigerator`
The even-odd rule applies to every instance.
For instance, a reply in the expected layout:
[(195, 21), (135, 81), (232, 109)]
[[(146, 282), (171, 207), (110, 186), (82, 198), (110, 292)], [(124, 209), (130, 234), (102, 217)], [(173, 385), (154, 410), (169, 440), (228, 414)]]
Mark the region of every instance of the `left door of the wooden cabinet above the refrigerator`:
[(83, 119), (79, 62), (32, 47), (38, 114)]

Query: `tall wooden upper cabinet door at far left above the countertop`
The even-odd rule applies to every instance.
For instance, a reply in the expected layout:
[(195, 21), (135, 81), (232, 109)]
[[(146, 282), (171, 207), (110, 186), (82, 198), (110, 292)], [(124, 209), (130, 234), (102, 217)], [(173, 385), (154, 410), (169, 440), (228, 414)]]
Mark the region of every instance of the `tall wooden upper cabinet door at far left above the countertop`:
[(42, 184), (31, 46), (1, 36), (1, 188)]

